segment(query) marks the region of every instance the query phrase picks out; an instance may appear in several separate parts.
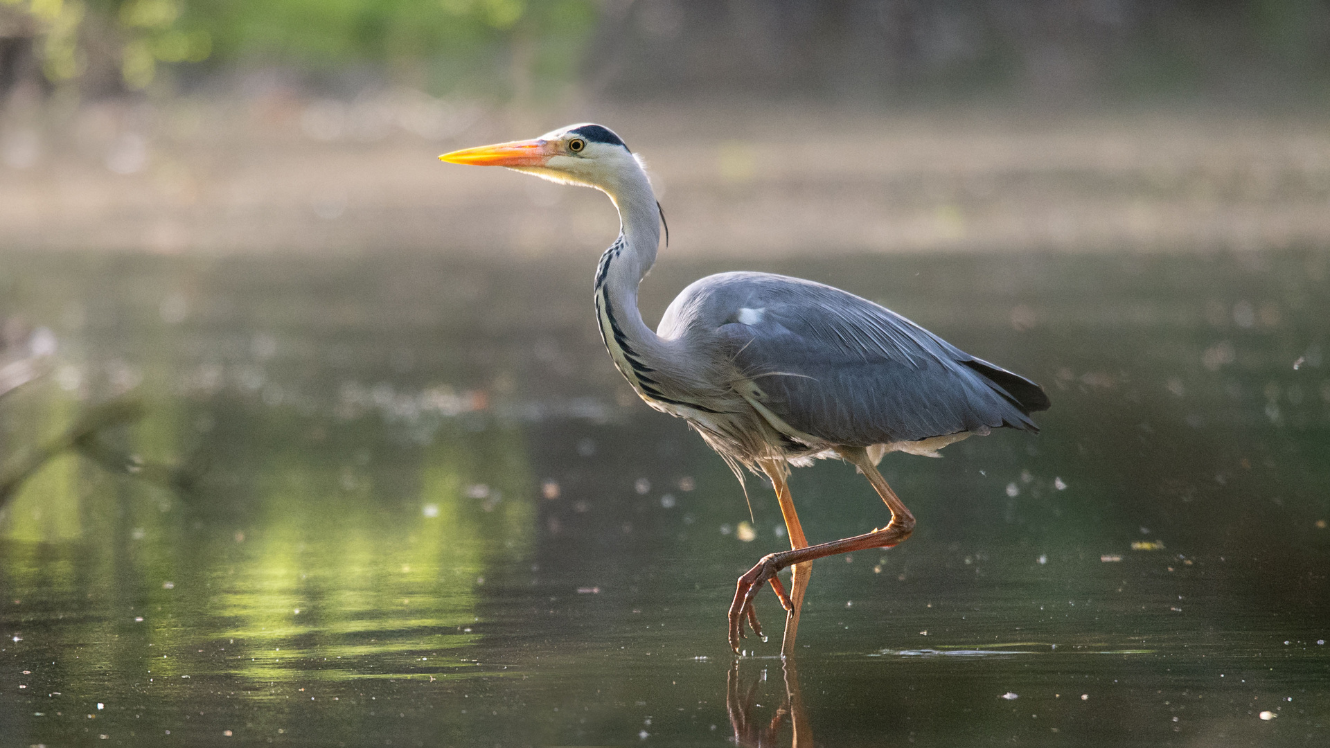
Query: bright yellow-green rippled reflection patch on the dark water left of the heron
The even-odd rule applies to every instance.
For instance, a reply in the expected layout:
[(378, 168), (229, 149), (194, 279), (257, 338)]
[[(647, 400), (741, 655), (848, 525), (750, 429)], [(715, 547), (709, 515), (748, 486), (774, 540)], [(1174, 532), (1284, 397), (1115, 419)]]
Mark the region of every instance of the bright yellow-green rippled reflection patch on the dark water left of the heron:
[(209, 564), (222, 590), (210, 610), (231, 622), (218, 638), (242, 642), (235, 672), (273, 681), (464, 664), (447, 651), (476, 639), (477, 587), (496, 556), (520, 558), (531, 542), (521, 454), (512, 430), (440, 435), (420, 455), (419, 500), (388, 510), (372, 500), (372, 474), (274, 458), (261, 478), (262, 530)]

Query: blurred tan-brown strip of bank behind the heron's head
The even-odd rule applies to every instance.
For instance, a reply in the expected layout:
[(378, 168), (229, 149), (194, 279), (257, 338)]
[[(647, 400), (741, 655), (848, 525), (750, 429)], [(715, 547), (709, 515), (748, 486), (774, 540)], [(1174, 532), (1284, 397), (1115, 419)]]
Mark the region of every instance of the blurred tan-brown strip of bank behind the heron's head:
[(670, 253), (1330, 248), (1330, 118), (1252, 112), (511, 112), (395, 89), (12, 101), (0, 252), (595, 254), (613, 206), (466, 145), (598, 121), (645, 156)]

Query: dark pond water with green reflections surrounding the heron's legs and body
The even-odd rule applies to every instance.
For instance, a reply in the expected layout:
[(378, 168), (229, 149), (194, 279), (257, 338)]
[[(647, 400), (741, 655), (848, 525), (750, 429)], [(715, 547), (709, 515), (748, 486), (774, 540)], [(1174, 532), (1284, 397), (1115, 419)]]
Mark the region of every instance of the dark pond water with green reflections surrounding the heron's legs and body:
[[(888, 455), (919, 524), (814, 564), (797, 655), (730, 655), (787, 547), (637, 402), (577, 262), (9, 256), (59, 339), (0, 462), (97, 403), (0, 518), (0, 745), (1325, 745), (1330, 262), (742, 266), (880, 301), (1041, 382), (1037, 437)], [(650, 319), (735, 262), (670, 260)], [(842, 463), (814, 542), (880, 527)]]

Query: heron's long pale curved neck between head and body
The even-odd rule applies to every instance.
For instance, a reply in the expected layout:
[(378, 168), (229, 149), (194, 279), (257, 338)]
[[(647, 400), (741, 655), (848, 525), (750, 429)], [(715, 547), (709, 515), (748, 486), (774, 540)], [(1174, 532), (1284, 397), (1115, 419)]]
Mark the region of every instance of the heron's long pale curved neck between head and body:
[[(606, 333), (605, 343), (610, 354), (614, 353), (610, 346), (613, 337), (620, 346), (629, 349), (629, 355), (636, 354), (640, 361), (658, 361), (664, 341), (642, 322), (637, 309), (637, 286), (656, 264), (660, 208), (646, 173), (636, 164), (633, 166), (625, 169), (616, 184), (601, 188), (618, 208), (620, 237), (600, 258), (596, 305), (612, 323), (610, 330), (601, 330)], [(626, 371), (624, 374), (628, 375)]]

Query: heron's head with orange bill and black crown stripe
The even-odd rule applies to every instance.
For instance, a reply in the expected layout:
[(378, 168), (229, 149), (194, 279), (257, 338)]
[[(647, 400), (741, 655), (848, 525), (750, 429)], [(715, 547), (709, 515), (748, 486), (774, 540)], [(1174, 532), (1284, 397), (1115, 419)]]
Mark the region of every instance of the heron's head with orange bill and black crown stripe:
[(610, 194), (618, 192), (626, 174), (641, 173), (641, 162), (624, 141), (609, 128), (592, 124), (568, 125), (535, 140), (454, 150), (439, 158), (473, 166), (507, 166)]

